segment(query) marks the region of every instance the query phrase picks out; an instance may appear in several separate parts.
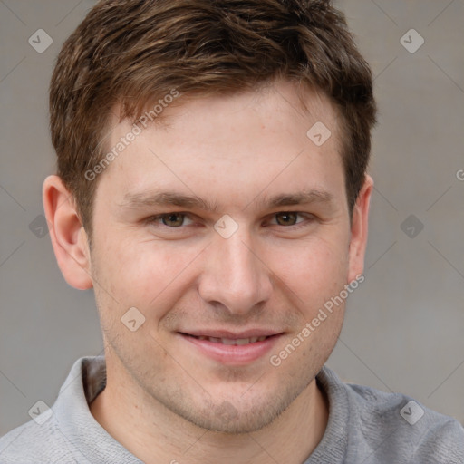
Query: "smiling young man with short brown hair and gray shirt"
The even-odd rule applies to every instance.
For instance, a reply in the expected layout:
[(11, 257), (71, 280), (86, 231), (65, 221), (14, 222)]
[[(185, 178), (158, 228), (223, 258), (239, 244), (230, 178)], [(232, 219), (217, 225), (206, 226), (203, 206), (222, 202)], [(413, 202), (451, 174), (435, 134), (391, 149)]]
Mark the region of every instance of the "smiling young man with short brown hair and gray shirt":
[(1, 462), (464, 462), (456, 420), (324, 366), (363, 280), (372, 78), (310, 0), (104, 0), (51, 85), (43, 185), (105, 356)]

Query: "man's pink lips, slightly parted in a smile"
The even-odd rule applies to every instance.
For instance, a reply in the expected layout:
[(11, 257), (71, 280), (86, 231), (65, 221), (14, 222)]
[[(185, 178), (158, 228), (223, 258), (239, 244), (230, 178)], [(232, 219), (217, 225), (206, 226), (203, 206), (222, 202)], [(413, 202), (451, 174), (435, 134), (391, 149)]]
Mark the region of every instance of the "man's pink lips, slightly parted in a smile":
[[(230, 366), (244, 366), (263, 358), (269, 353), (275, 343), (284, 333), (272, 331), (250, 330), (242, 333), (230, 333), (227, 331), (201, 331), (195, 333), (178, 333), (179, 336), (190, 346), (194, 346), (198, 352), (207, 356), (209, 359)], [(194, 336), (191, 336), (194, 335)], [(229, 338), (238, 340), (241, 338), (266, 336), (262, 342), (248, 343), (243, 345), (223, 344), (200, 340), (196, 336), (206, 336), (213, 338)]]

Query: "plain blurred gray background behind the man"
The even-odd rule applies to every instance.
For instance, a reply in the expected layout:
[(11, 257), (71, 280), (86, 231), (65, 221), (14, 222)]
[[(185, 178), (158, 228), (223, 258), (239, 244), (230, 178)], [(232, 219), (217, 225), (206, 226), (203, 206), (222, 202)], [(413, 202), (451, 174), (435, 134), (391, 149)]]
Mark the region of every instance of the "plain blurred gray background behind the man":
[[(93, 3), (0, 0), (0, 434), (29, 420), (36, 401), (53, 404), (74, 360), (102, 353), (92, 292), (66, 285), (36, 219), (55, 166), (53, 62)], [(464, 4), (338, 5), (372, 64), (381, 113), (366, 279), (328, 365), (343, 380), (410, 394), (464, 422)], [(28, 43), (40, 28), (53, 38), (43, 53)], [(415, 53), (401, 44), (411, 28), (425, 40)], [(403, 224), (410, 215), (415, 224)]]

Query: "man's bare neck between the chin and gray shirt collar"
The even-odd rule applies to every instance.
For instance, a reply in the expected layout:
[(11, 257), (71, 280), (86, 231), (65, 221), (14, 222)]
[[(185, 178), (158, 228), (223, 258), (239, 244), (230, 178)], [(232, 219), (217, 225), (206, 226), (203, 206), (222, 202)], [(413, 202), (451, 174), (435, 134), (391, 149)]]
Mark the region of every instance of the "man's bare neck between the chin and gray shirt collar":
[(110, 359), (106, 388), (90, 410), (103, 429), (147, 464), (301, 464), (324, 435), (328, 404), (315, 379), (265, 428), (229, 434), (201, 429), (169, 411), (131, 381), (128, 372), (113, 369)]

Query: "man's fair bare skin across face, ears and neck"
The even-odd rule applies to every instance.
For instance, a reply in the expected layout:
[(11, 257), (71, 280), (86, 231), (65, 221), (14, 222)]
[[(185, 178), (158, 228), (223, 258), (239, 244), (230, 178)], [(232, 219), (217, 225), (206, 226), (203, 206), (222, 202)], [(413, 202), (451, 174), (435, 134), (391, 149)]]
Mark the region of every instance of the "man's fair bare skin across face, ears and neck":
[[(306, 96), (303, 111), (294, 84), (281, 81), (165, 110), (166, 123), (144, 130), (100, 175), (92, 250), (61, 180), (44, 182), (58, 264), (70, 285), (94, 288), (101, 317), (108, 382), (92, 415), (145, 462), (299, 464), (324, 435), (328, 404), (314, 378), (344, 304), (278, 367), (269, 357), (362, 274), (373, 182), (366, 176), (351, 224), (337, 113), (324, 96)], [(306, 136), (316, 121), (332, 131), (320, 147)], [(130, 129), (112, 121), (109, 147)], [(332, 200), (266, 204), (304, 189)], [(159, 190), (217, 210), (128, 201)], [(147, 220), (168, 213), (186, 215)], [(228, 238), (214, 228), (226, 214), (238, 226)], [(145, 317), (134, 332), (121, 323), (131, 307)], [(179, 335), (256, 327), (281, 335), (243, 365), (212, 360)]]

